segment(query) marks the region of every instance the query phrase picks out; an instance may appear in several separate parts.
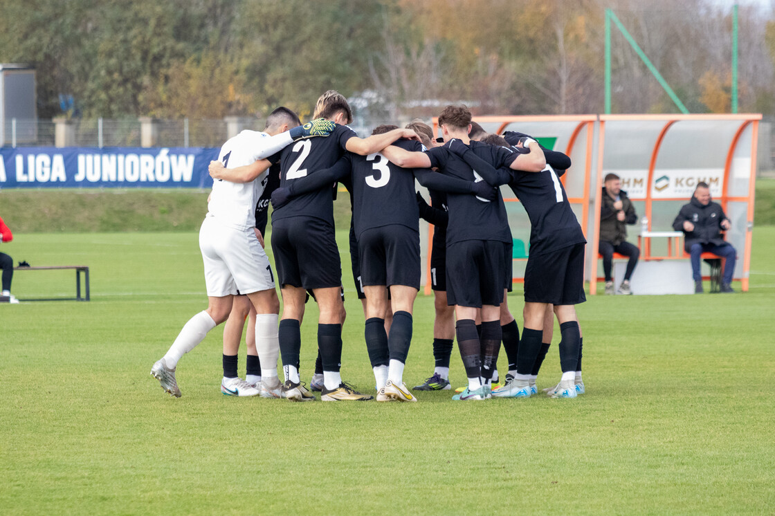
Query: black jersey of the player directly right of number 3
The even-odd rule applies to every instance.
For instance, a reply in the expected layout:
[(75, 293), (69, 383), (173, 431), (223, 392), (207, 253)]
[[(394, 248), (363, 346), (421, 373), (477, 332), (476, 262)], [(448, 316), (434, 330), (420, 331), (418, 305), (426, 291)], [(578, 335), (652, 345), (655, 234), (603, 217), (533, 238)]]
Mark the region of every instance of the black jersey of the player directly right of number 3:
[[(471, 142), (470, 149), (478, 157), (491, 163), (498, 169), (508, 167), (517, 157), (516, 153), (486, 143)], [(467, 181), (481, 181), (477, 172), (446, 146), (435, 147), (428, 152), (431, 167), (445, 175), (458, 177)], [(512, 243), (512, 232), (508, 228), (508, 216), (503, 198), (498, 192), (495, 201), (481, 201), (470, 194), (446, 195), (446, 205), (449, 208), (449, 224), (446, 228), (446, 243), (463, 242), (464, 240), (497, 240)]]

